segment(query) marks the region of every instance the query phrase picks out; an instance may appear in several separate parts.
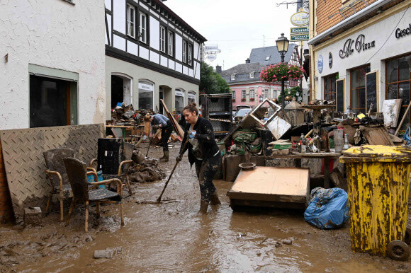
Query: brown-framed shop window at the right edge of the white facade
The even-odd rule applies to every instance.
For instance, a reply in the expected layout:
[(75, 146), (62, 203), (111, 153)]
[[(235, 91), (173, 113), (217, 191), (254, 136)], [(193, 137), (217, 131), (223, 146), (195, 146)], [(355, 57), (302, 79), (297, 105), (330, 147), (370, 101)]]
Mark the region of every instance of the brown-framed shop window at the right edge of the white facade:
[[(402, 99), (400, 117), (403, 117), (410, 103), (411, 85), (411, 54), (397, 59), (390, 59), (385, 63), (386, 81), (385, 98), (387, 100)], [(402, 124), (410, 123), (410, 112)], [(404, 127), (404, 126), (403, 126)]]

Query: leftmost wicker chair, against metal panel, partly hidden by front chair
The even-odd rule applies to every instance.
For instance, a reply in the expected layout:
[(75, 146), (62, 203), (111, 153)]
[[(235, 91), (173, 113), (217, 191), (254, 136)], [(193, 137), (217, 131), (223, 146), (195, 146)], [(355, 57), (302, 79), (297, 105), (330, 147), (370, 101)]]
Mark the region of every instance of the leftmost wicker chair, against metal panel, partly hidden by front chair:
[(45, 207), (46, 214), (50, 209), (50, 202), (53, 194), (59, 194), (60, 199), (60, 221), (63, 221), (63, 200), (70, 197), (72, 187), (70, 186), (66, 167), (64, 167), (64, 158), (72, 158), (74, 151), (67, 148), (57, 148), (45, 151), (43, 153), (48, 178), (51, 182), (50, 195), (47, 199), (47, 206)]

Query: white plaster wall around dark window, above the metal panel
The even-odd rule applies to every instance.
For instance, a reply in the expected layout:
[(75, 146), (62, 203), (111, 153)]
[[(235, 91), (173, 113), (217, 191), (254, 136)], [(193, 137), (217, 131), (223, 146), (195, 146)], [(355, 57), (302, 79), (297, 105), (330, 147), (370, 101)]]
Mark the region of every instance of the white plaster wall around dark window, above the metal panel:
[(0, 129), (29, 127), (29, 65), (77, 77), (74, 124), (106, 120), (104, 1), (72, 2), (0, 0)]

